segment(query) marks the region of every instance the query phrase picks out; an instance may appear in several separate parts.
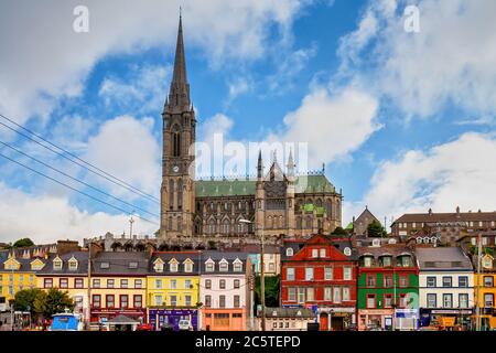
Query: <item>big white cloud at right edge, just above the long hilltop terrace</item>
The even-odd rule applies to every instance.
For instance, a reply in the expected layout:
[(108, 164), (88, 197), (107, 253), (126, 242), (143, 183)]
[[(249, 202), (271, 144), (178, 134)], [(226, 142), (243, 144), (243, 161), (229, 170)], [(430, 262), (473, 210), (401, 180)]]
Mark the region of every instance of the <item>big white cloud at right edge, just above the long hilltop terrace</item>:
[(406, 151), (379, 164), (364, 200), (347, 205), (346, 218), (364, 205), (376, 216), (408, 212), (496, 211), (496, 136), (467, 132), (428, 151)]

